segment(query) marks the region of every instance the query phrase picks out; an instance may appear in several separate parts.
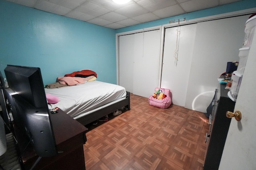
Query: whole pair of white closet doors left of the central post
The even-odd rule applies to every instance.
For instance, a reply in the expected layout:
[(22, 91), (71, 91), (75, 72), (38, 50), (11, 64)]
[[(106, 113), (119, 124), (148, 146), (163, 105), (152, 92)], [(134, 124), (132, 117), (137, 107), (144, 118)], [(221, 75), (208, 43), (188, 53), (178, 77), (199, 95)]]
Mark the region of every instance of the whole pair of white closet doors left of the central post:
[(119, 36), (119, 84), (149, 97), (158, 86), (161, 31)]

